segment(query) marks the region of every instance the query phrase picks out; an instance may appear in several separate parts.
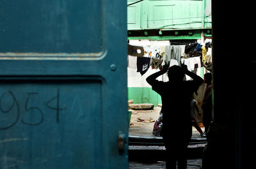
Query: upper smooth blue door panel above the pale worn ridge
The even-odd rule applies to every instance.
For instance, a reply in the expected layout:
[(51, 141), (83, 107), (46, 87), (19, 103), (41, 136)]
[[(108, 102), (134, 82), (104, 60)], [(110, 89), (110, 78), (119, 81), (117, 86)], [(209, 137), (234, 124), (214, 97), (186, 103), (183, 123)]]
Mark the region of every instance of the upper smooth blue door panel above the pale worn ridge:
[(101, 9), (99, 0), (3, 0), (1, 52), (100, 52)]

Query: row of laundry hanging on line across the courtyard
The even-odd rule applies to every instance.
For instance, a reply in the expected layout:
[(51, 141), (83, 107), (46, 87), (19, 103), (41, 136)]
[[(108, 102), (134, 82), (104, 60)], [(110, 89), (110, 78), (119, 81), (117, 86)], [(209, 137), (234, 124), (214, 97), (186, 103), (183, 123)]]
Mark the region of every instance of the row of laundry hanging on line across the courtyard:
[[(208, 48), (211, 48), (211, 42), (207, 43), (189, 43), (187, 45), (168, 45), (168, 46), (152, 46), (143, 47), (144, 55), (137, 57), (136, 49), (141, 47), (132, 46), (128, 52), (128, 67), (137, 69), (137, 72), (144, 75), (147, 70), (162, 69), (164, 64), (172, 63), (170, 66), (179, 65), (184, 63), (188, 66), (189, 70), (195, 70), (202, 66), (209, 66), (211, 64), (211, 52), (208, 52)], [(135, 56), (135, 57), (134, 57)]]

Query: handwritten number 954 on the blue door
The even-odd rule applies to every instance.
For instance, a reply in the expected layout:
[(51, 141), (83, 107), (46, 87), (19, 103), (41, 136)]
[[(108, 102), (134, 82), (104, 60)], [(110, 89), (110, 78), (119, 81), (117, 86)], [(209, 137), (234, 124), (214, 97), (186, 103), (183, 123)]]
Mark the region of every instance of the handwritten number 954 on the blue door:
[[(44, 112), (39, 107), (29, 107), (29, 101), (31, 101), (35, 97), (38, 97), (39, 94), (38, 94), (38, 92), (27, 92), (27, 94), (28, 94), (28, 96), (26, 98), (26, 103), (24, 105), (24, 110), (26, 110), (26, 112), (25, 112), (24, 118), (21, 119), (21, 122), (22, 122), (22, 124), (26, 124), (29, 126), (38, 126), (39, 124), (41, 124), (44, 121)], [(4, 107), (3, 101), (4, 101), (4, 98), (7, 98), (6, 96), (8, 96), (8, 95), (9, 95), (9, 99), (11, 99), (11, 101), (10, 101), (11, 104), (9, 107)], [(56, 108), (50, 106), (51, 102), (56, 103)], [(59, 120), (60, 110), (66, 109), (66, 108), (60, 108), (59, 103), (60, 103), (60, 90), (58, 89), (57, 96), (54, 96), (49, 101), (47, 101), (47, 105), (46, 105), (47, 108), (50, 108), (51, 110), (56, 110), (56, 122), (60, 121)], [(20, 105), (19, 105), (19, 102), (17, 101), (17, 98), (15, 97), (15, 94), (13, 94), (12, 91), (4, 92), (1, 95), (0, 110), (3, 114), (8, 114), (8, 113), (14, 112), (16, 110), (15, 111), (15, 114), (16, 114), (15, 120), (13, 122), (6, 122), (6, 126), (0, 126), (1, 130), (12, 128), (12, 126), (15, 126), (15, 124), (17, 124), (17, 122), (19, 121), (19, 117), (20, 117)], [(39, 117), (39, 119), (36, 119), (35, 122), (29, 122), (28, 118), (26, 118), (28, 116), (28, 114), (32, 113), (32, 112), (33, 112), (33, 114), (38, 114), (38, 117)]]

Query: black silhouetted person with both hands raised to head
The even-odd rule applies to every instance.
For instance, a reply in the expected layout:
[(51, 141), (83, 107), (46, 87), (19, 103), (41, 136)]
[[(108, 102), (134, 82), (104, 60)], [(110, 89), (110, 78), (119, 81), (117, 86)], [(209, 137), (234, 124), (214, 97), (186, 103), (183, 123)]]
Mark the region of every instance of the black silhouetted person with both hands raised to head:
[[(166, 168), (186, 168), (186, 149), (192, 135), (190, 114), (190, 101), (193, 92), (204, 82), (191, 71), (186, 65), (172, 66), (168, 69), (164, 65), (163, 70), (147, 77), (148, 84), (161, 95), (163, 112), (163, 141), (168, 157)], [(168, 82), (156, 80), (168, 70)], [(183, 81), (184, 75), (193, 80)]]

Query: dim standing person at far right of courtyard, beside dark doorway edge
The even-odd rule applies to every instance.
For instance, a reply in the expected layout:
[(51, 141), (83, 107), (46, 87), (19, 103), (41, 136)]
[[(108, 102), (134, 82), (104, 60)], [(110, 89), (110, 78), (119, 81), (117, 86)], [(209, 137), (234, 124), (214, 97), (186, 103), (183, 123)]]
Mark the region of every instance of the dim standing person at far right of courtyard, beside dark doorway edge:
[(203, 110), (203, 124), (204, 124), (204, 132), (205, 135), (209, 129), (209, 126), (212, 121), (212, 74), (205, 73), (204, 74), (204, 94), (202, 101), (202, 110)]

